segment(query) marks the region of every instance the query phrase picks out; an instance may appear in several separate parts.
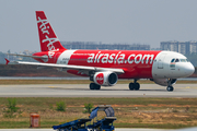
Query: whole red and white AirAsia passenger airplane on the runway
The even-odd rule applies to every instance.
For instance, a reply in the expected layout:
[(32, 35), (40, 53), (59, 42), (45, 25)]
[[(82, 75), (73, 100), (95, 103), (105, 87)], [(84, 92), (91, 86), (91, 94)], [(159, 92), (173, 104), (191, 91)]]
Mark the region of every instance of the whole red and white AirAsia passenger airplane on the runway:
[[(68, 73), (89, 76), (90, 90), (113, 86), (118, 79), (129, 79), (130, 91), (138, 91), (140, 79), (149, 79), (155, 84), (174, 91), (177, 79), (194, 73), (194, 66), (178, 52), (162, 50), (69, 50), (57, 38), (44, 11), (36, 11), (40, 52), (31, 57), (38, 62), (15, 61), (19, 64), (51, 67)], [(8, 63), (8, 61), (7, 61)]]

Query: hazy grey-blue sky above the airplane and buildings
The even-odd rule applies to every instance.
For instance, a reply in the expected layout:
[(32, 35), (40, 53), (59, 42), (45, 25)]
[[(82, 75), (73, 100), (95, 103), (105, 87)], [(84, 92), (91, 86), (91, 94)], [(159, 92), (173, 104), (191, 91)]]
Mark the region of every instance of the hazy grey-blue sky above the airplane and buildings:
[(197, 40), (197, 0), (0, 0), (0, 51), (39, 51), (35, 11), (61, 41)]

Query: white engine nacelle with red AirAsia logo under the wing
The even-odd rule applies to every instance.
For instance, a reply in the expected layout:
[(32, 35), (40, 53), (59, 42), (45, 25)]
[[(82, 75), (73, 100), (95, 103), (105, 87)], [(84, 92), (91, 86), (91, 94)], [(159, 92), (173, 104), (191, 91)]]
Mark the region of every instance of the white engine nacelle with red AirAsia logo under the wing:
[(114, 72), (96, 72), (93, 76), (94, 83), (102, 86), (113, 86), (117, 83), (117, 74)]

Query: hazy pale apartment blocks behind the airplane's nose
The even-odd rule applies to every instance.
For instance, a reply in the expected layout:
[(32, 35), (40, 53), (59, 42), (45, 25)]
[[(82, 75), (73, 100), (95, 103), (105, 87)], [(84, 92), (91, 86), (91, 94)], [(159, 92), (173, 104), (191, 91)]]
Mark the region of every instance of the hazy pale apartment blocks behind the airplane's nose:
[(183, 55), (197, 52), (197, 41), (161, 41), (160, 47), (162, 50), (176, 51)]

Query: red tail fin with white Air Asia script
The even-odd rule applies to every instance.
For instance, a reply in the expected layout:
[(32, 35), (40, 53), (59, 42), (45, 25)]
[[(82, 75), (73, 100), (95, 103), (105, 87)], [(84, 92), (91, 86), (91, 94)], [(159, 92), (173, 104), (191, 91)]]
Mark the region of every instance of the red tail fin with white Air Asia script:
[(37, 28), (42, 51), (65, 49), (53, 31), (44, 11), (36, 11)]

